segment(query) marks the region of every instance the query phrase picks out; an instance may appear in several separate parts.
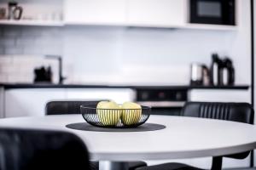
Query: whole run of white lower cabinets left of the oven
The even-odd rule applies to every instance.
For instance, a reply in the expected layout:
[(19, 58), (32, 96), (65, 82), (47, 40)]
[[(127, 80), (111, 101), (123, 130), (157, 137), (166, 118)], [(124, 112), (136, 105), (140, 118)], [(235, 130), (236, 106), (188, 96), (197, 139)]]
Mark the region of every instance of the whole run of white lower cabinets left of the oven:
[[(129, 88), (25, 88), (8, 89), (4, 93), (4, 116), (44, 116), (51, 100), (112, 99), (117, 103), (132, 101)], [(1, 100), (1, 98), (0, 98)], [(0, 108), (1, 109), (1, 108)]]

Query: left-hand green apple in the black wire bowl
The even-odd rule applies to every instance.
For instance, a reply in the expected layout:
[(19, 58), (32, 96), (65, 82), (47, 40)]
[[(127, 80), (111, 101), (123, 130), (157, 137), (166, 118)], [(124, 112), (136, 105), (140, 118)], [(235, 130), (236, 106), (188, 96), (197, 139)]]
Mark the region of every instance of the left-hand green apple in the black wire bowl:
[(113, 101), (101, 101), (97, 104), (96, 113), (104, 126), (115, 126), (119, 122), (122, 110)]

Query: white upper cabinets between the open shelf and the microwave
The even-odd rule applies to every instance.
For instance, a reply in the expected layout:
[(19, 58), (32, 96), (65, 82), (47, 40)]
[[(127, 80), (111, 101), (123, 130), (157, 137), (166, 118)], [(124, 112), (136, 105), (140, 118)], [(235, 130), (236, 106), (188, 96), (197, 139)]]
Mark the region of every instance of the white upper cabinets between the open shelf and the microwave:
[(68, 25), (185, 26), (187, 0), (66, 0)]

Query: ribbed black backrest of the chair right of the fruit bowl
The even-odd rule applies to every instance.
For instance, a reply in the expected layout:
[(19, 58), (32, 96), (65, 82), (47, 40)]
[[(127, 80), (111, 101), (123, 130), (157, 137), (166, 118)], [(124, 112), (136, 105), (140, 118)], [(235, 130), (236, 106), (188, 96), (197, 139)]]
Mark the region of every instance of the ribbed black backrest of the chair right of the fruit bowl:
[[(220, 119), (234, 122), (253, 124), (254, 111), (247, 103), (219, 103), (219, 102), (187, 102), (182, 110), (182, 116), (193, 116)], [(226, 157), (243, 159), (250, 151)]]

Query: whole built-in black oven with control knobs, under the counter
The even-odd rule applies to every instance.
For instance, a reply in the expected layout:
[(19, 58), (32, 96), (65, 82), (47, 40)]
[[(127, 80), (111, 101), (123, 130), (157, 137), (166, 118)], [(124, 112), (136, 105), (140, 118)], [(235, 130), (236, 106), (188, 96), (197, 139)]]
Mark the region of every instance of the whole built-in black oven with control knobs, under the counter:
[(180, 116), (188, 99), (188, 88), (137, 88), (136, 102), (151, 106), (151, 115)]

